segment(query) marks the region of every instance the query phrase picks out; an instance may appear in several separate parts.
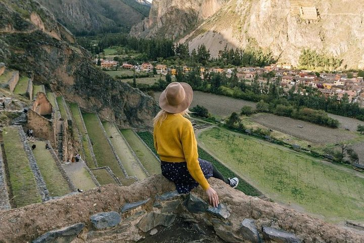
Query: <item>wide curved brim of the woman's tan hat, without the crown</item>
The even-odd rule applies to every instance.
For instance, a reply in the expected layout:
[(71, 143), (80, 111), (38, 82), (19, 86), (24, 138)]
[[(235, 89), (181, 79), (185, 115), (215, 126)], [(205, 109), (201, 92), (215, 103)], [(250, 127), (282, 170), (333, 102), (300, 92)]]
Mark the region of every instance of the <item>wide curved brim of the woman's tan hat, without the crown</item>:
[(171, 105), (168, 103), (167, 99), (165, 98), (165, 92), (166, 90), (164, 90), (162, 92), (162, 94), (159, 96), (159, 106), (162, 108), (162, 110), (165, 110), (169, 113), (180, 113), (182, 111), (185, 111), (192, 102), (193, 99), (193, 90), (192, 87), (184, 82), (180, 82), (179, 83), (185, 90), (185, 99), (184, 101), (182, 101), (181, 103), (179, 103), (178, 105)]

